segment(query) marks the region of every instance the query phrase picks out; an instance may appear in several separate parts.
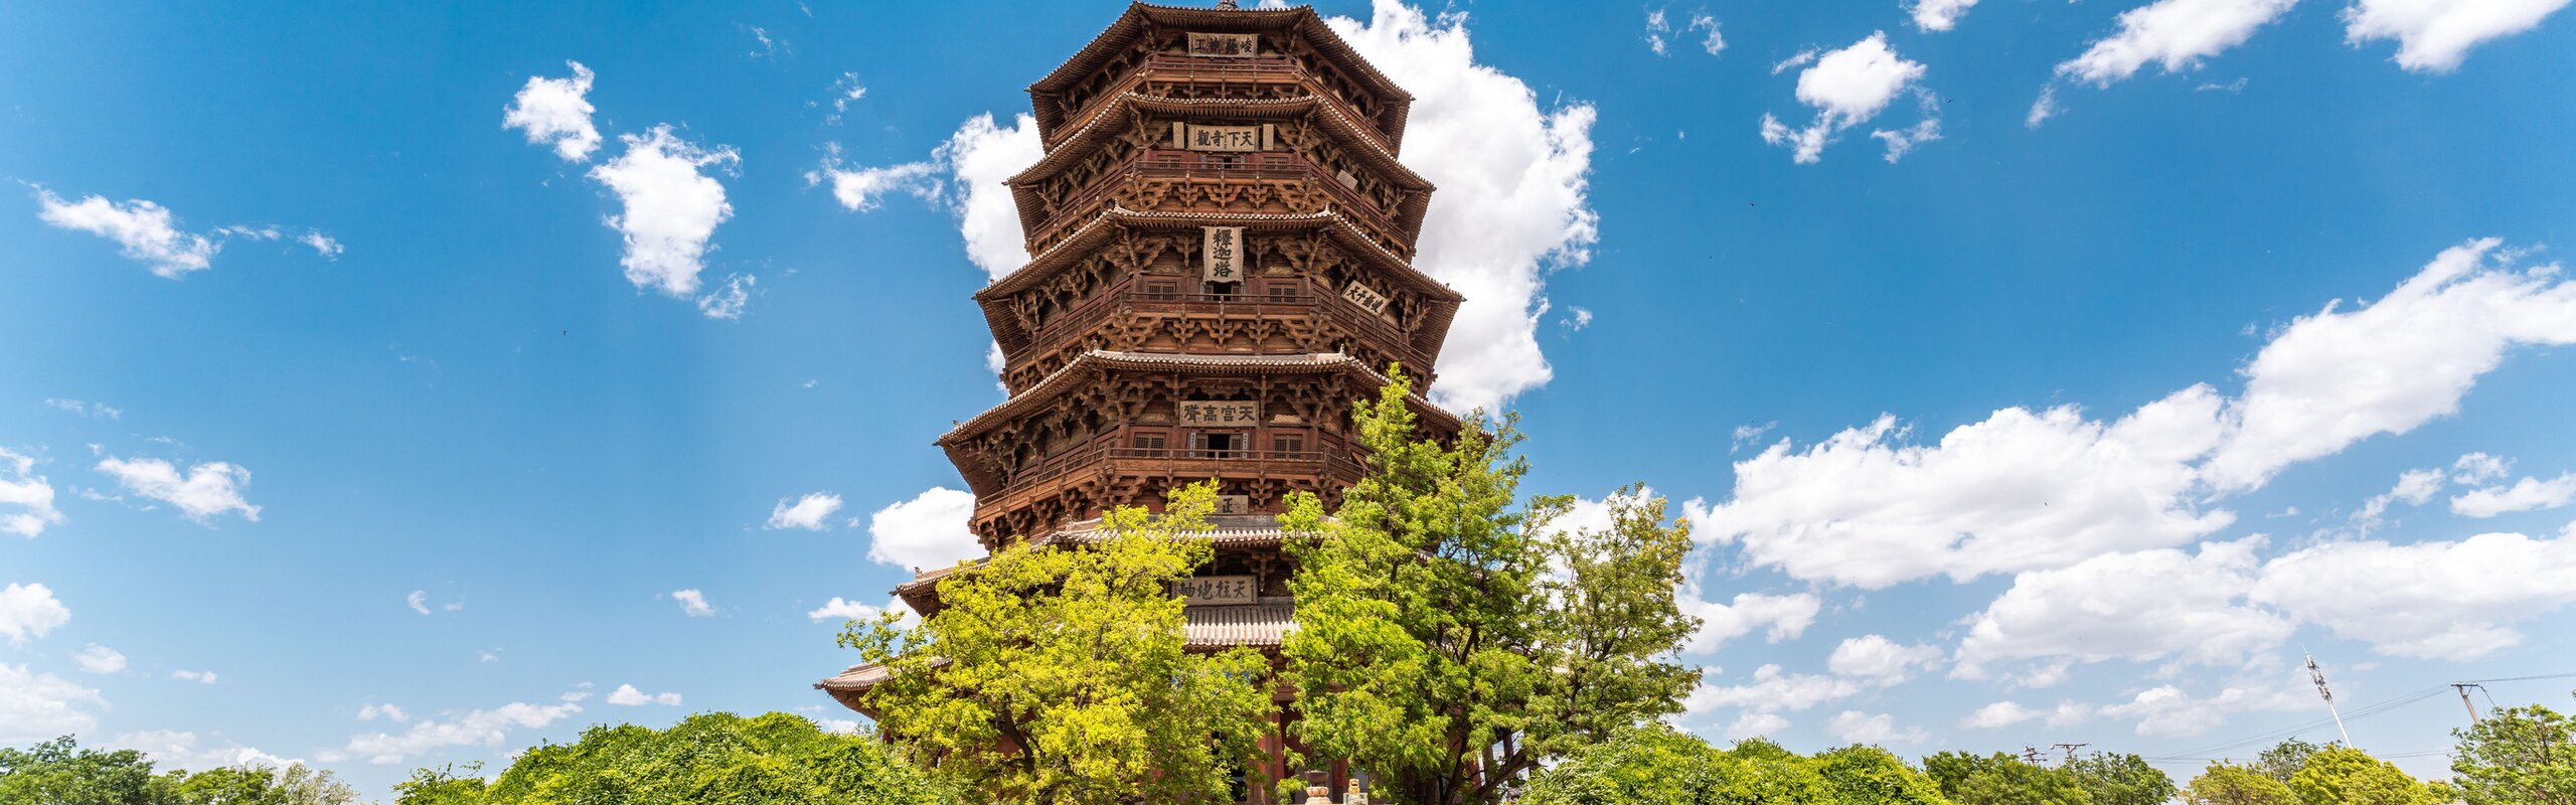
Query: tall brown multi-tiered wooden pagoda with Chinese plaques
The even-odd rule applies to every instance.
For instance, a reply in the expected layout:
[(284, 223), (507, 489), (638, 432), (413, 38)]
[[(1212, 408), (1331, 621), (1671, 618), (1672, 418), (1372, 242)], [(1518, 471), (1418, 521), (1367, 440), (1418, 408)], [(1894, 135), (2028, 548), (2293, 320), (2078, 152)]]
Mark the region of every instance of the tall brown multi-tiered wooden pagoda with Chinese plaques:
[[(935, 441), (976, 493), (971, 526), (987, 550), (1079, 544), (1103, 511), (1213, 477), (1216, 555), (1175, 591), (1190, 648), (1278, 648), (1275, 516), (1360, 480), (1352, 405), (1388, 364), (1430, 384), (1461, 302), (1412, 268), (1432, 194), (1396, 163), (1412, 95), (1311, 8), (1231, 3), (1128, 5), (1028, 95), (1046, 155), (1007, 186), (1033, 258), (974, 294), (1010, 400)], [(1414, 408), (1430, 433), (1461, 428)], [(971, 568), (894, 593), (930, 614)], [(878, 679), (817, 686), (866, 712)]]

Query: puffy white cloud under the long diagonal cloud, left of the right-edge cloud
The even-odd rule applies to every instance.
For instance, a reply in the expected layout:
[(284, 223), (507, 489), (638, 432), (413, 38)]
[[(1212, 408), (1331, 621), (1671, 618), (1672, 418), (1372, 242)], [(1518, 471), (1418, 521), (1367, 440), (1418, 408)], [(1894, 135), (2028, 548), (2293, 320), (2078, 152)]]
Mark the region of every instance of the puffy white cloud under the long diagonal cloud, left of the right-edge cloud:
[(2241, 604), (2262, 537), (2179, 550), (2112, 552), (2063, 570), (2030, 570), (1968, 619), (1958, 676), (2020, 658), (2231, 666), (2290, 637), (2290, 619)]

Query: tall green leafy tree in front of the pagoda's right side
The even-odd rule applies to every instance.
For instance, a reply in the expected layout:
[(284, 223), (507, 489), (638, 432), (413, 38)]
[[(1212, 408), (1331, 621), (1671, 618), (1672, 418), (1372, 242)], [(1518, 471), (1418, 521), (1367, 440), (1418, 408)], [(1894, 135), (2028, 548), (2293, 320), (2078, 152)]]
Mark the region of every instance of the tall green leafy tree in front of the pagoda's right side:
[(1370, 472), (1332, 519), (1314, 495), (1280, 519), (1309, 534), (1288, 544), (1280, 648), (1306, 751), (1396, 802), (1497, 802), (1540, 761), (1677, 712), (1698, 684), (1669, 663), (1695, 630), (1672, 604), (1687, 529), (1631, 495), (1610, 532), (1558, 534), (1569, 498), (1515, 508), (1510, 421), (1476, 413), (1440, 444), (1406, 400), (1394, 374), (1352, 410)]

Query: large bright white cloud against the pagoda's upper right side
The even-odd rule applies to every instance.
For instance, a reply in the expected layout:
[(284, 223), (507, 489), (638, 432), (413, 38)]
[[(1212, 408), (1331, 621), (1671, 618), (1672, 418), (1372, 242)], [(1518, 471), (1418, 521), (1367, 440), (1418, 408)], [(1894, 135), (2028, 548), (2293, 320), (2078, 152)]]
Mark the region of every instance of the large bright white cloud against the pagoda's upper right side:
[(1476, 65), (1466, 15), (1425, 18), (1378, 0), (1368, 26), (1334, 34), (1404, 90), (1404, 165), (1440, 191), (1414, 266), (1466, 294), (1440, 351), (1432, 400), (1499, 408), (1553, 377), (1538, 348), (1546, 273), (1582, 266), (1600, 240), (1589, 206), (1589, 103), (1543, 108), (1528, 83)]

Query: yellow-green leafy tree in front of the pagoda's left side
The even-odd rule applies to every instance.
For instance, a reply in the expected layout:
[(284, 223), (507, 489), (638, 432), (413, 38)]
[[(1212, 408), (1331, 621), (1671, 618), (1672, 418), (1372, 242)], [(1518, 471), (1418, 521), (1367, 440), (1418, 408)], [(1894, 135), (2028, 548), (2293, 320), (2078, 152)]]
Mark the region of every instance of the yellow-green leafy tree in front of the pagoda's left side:
[(940, 583), (917, 627), (853, 622), (842, 645), (891, 671), (868, 689), (878, 730), (935, 777), (1002, 802), (1226, 797), (1273, 722), (1270, 661), (1188, 653), (1164, 583), (1208, 562), (1216, 485), (1162, 516), (1118, 508), (1105, 542), (1012, 544)]

